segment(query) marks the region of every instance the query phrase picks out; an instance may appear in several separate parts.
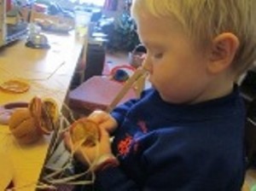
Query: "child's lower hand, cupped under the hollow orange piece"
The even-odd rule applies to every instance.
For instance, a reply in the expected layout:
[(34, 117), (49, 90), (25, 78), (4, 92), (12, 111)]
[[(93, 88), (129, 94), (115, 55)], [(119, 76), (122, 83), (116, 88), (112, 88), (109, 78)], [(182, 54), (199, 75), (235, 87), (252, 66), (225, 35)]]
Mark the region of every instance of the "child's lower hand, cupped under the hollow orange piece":
[[(73, 152), (73, 142), (69, 131), (64, 133), (64, 143), (67, 150)], [(113, 156), (110, 147), (109, 135), (106, 130), (101, 129), (101, 139), (95, 146), (83, 146), (81, 145), (74, 152), (74, 156), (84, 165), (95, 164), (92, 167), (92, 171), (97, 171), (102, 168), (106, 161), (111, 160), (110, 165), (118, 165), (117, 159)]]

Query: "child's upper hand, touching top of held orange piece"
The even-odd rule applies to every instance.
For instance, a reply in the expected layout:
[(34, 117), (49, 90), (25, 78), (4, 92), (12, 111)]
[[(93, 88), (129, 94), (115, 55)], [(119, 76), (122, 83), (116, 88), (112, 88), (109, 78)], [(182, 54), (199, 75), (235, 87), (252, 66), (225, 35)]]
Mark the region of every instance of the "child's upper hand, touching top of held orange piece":
[(100, 110), (91, 113), (87, 119), (94, 121), (100, 129), (107, 130), (108, 133), (112, 133), (118, 126), (117, 121), (109, 113)]

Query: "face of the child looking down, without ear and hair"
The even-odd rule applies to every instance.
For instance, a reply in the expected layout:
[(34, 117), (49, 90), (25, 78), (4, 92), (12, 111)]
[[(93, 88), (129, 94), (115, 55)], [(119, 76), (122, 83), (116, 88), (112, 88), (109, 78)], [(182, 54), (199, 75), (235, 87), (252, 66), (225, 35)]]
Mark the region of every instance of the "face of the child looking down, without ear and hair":
[(174, 20), (147, 16), (138, 18), (137, 26), (148, 51), (143, 64), (162, 99), (173, 103), (207, 99), (212, 80), (207, 72), (207, 54), (195, 49)]

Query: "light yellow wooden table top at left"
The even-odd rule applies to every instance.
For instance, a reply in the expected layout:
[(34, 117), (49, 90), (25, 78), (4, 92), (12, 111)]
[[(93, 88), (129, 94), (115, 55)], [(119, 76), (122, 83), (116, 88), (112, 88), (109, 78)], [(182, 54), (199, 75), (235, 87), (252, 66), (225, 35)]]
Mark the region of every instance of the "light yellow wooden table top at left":
[[(20, 40), (0, 50), (0, 84), (12, 78), (26, 80), (31, 88), (23, 94), (0, 90), (0, 105), (30, 101), (33, 96), (51, 97), (61, 107), (75, 70), (84, 40), (74, 34), (47, 34), (50, 49), (31, 49)], [(34, 190), (44, 165), (49, 136), (35, 144), (21, 146), (0, 124), (0, 190), (10, 181), (18, 190)]]

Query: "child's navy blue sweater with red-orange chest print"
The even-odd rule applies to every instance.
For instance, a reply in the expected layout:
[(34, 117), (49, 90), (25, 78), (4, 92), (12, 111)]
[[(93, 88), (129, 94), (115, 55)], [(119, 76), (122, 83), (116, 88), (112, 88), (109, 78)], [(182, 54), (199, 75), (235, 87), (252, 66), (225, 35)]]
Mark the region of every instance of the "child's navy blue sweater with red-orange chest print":
[(96, 174), (96, 190), (241, 190), (245, 112), (238, 90), (194, 105), (166, 103), (147, 90), (112, 115), (120, 165)]

